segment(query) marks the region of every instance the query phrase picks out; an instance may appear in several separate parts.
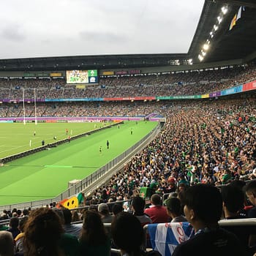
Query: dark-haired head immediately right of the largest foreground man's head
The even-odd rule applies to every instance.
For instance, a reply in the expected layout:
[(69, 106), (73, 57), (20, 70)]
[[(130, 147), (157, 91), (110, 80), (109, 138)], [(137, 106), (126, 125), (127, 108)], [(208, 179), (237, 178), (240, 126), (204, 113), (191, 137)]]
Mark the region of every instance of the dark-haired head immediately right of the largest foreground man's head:
[(223, 186), (222, 200), (225, 217), (238, 215), (244, 208), (244, 192), (236, 186)]

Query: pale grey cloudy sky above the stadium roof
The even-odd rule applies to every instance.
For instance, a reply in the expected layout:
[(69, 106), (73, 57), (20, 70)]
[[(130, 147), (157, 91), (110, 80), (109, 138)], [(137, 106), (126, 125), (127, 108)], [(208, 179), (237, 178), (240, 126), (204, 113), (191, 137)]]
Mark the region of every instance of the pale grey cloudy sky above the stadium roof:
[(204, 0), (1, 2), (0, 59), (187, 53)]

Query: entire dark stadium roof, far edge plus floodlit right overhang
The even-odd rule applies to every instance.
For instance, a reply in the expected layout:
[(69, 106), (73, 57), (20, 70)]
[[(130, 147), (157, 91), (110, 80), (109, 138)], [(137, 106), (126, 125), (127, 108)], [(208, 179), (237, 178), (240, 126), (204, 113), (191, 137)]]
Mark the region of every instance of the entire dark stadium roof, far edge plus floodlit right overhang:
[[(230, 29), (232, 20), (236, 25)], [(198, 63), (199, 55), (202, 62), (246, 59), (256, 53), (255, 27), (255, 0), (206, 0), (188, 53), (1, 59), (0, 71), (161, 67), (191, 64), (191, 59)], [(206, 42), (208, 50), (203, 49)]]

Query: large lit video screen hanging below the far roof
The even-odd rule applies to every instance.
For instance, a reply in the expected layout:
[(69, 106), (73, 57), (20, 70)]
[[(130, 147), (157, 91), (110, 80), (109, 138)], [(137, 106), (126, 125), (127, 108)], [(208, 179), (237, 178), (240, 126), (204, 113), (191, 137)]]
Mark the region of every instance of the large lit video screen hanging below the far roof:
[(67, 70), (67, 83), (98, 83), (97, 70)]

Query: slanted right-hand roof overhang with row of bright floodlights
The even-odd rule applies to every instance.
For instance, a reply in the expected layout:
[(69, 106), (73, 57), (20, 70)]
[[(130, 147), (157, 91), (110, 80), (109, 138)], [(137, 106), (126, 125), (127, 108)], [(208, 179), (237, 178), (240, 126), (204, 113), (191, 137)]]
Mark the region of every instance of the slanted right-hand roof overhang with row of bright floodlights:
[[(224, 15), (222, 8), (227, 8)], [(241, 18), (238, 18), (239, 9)], [(225, 9), (223, 9), (225, 10)], [(233, 18), (236, 18), (233, 20)], [(219, 23), (219, 20), (221, 22)], [(233, 27), (230, 23), (236, 22)], [(217, 30), (214, 29), (214, 26)], [(198, 55), (203, 61), (225, 61), (230, 59), (244, 59), (256, 51), (256, 1), (215, 0), (205, 1), (203, 12), (189, 48), (189, 56), (193, 62), (198, 62)], [(212, 34), (210, 34), (212, 33)], [(213, 37), (211, 38), (211, 36)], [(203, 45), (209, 40), (208, 51)]]

